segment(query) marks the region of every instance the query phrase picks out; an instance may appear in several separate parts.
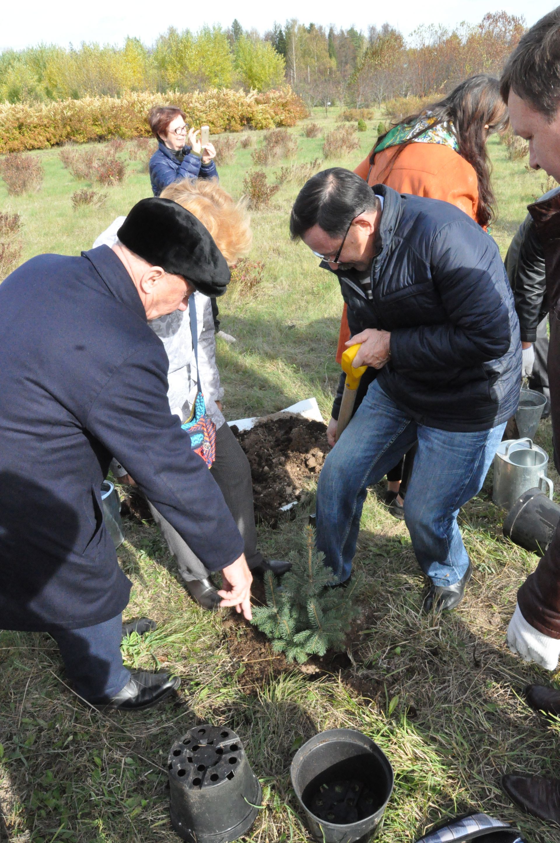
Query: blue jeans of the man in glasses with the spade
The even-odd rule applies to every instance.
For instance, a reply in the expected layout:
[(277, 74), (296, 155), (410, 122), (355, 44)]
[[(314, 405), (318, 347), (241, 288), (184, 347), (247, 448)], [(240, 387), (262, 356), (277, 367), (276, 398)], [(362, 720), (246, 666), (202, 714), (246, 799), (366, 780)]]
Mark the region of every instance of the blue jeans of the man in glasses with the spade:
[(424, 427), (399, 410), (374, 381), (328, 454), (317, 486), (317, 548), (335, 582), (343, 583), (352, 573), (368, 486), (380, 481), (417, 441), (405, 498), (412, 547), (434, 585), (457, 583), (469, 566), (457, 515), (481, 490), (504, 429), (505, 423), (476, 432)]

